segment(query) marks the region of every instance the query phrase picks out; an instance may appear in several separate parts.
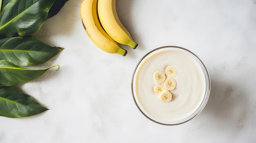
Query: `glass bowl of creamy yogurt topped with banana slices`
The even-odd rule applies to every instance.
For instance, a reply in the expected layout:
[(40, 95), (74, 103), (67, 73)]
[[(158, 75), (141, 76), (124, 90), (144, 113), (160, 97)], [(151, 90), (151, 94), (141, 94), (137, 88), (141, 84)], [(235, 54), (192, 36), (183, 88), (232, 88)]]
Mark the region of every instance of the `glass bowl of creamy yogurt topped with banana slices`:
[(147, 53), (132, 75), (132, 96), (145, 117), (178, 125), (197, 116), (210, 94), (210, 77), (191, 51), (164, 46)]

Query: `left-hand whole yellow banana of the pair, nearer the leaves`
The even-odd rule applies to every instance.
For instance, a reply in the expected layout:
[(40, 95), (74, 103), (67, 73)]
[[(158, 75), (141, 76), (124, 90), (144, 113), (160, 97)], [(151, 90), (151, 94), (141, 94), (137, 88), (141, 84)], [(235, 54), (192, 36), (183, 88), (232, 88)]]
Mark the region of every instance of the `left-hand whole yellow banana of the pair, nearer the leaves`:
[(97, 15), (98, 0), (82, 0), (80, 15), (83, 27), (96, 46), (108, 53), (118, 53), (125, 56), (124, 50), (101, 27)]

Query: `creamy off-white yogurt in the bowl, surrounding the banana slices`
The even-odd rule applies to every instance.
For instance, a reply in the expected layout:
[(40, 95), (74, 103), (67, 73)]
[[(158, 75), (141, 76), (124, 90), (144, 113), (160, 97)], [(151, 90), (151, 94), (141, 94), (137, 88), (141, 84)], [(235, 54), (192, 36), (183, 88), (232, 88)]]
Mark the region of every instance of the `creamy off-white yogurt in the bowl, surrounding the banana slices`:
[[(176, 87), (171, 91), (172, 100), (164, 103), (155, 95), (157, 83), (153, 74), (164, 72), (167, 66), (177, 68)], [(144, 58), (133, 79), (134, 97), (141, 110), (157, 121), (178, 121), (189, 117), (202, 103), (206, 79), (201, 66), (191, 55), (174, 49), (157, 51)]]

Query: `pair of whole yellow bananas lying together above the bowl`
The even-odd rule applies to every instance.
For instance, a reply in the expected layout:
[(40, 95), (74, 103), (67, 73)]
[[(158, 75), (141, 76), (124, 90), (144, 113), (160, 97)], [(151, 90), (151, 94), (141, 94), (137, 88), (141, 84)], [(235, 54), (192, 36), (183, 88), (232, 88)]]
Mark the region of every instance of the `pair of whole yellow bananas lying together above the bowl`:
[(118, 43), (138, 46), (117, 16), (116, 0), (82, 0), (80, 12), (86, 33), (101, 50), (125, 56)]

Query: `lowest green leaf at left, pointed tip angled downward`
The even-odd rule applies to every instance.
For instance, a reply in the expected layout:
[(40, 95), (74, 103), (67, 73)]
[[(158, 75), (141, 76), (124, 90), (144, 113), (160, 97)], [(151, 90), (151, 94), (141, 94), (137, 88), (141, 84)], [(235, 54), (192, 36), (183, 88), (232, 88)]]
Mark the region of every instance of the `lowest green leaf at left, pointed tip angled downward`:
[(48, 110), (14, 88), (0, 85), (0, 116), (19, 118), (28, 117)]

